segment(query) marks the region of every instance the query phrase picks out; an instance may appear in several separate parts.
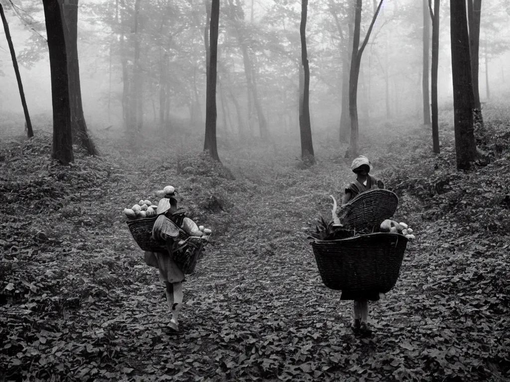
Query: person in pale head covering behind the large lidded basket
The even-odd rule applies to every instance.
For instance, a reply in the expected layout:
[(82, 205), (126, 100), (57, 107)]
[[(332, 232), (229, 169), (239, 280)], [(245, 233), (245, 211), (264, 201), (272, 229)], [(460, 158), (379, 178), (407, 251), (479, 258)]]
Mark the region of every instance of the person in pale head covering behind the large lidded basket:
[[(358, 195), (374, 188), (384, 188), (384, 184), (375, 177), (369, 175), (370, 161), (364, 155), (360, 155), (352, 161), (351, 170), (356, 174), (356, 180), (348, 185), (342, 197), (342, 204), (346, 204)], [(350, 292), (342, 291), (342, 300), (354, 300), (352, 330), (354, 333), (370, 335), (372, 331), (368, 327), (369, 301), (378, 301), (379, 292)]]

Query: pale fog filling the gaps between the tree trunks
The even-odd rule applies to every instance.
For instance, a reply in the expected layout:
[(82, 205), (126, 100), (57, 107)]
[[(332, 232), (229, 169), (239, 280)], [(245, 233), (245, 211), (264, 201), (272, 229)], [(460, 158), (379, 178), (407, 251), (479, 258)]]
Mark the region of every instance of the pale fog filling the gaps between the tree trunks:
[[(6, 8), (14, 48), (20, 61), (20, 73), (32, 116), (50, 115), (52, 111), (50, 71), (41, 2), (18, 0), (16, 12)], [(344, 2), (321, 0), (309, 4), (307, 24), (308, 57), (310, 62), (310, 113), (312, 131), (338, 129), (342, 96), (342, 56), (345, 44), (339, 37), (331, 9), (347, 32), (342, 14)], [(440, 109), (452, 104), (450, 24), (448, 2), (443, 1), (440, 14), (440, 52), (438, 97)], [(482, 102), (490, 97), (510, 95), (508, 81), (510, 61), (508, 36), (510, 15), (503, 0), (483, 2), (480, 23), (479, 92)], [(288, 1), (244, 2), (241, 25), (249, 38), (248, 51), (252, 60), (262, 112), (271, 134), (298, 134), (298, 64), (300, 3)], [(79, 7), (78, 48), (80, 77), (85, 118), (92, 131), (112, 125), (123, 131), (122, 120), (122, 56), (132, 63), (134, 1), (118, 3), (117, 30), (115, 3), (82, 0)], [(220, 4), (218, 40), (218, 77), (224, 91), (217, 88), (218, 134), (237, 134), (238, 116), (232, 97), (239, 103), (244, 124), (248, 124), (246, 78), (243, 56), (236, 39), (233, 7)], [(253, 11), (251, 11), (253, 9)], [(251, 13), (253, 12), (253, 13)], [(371, 2), (364, 2), (363, 41), (373, 15)], [(252, 17), (253, 16), (253, 17)], [(430, 21), (430, 17), (428, 17)], [(126, 31), (127, 45), (122, 51), (119, 25)], [(159, 89), (161, 46), (169, 55), (167, 81), (170, 96), (170, 121), (186, 121), (203, 126), (205, 119), (206, 56), (203, 28), (206, 9), (203, 3), (184, 0), (142, 1), (140, 3), (141, 70), (143, 73), (143, 124), (159, 123)], [(418, 0), (386, 0), (381, 9), (361, 63), (358, 89), (360, 128), (386, 119), (409, 121), (423, 119), (422, 112), (422, 30), (423, 6)], [(42, 37), (40, 37), (40, 34)], [(169, 36), (171, 35), (171, 38)], [(165, 42), (170, 41), (170, 42)], [(430, 56), (429, 56), (430, 59)], [(193, 102), (193, 73), (200, 112)], [(5, 34), (0, 33), (0, 119), (22, 117)], [(111, 78), (111, 80), (110, 80)], [(388, 104), (387, 110), (387, 89)], [(222, 102), (225, 102), (222, 107)], [(223, 118), (223, 113), (227, 113)], [(190, 114), (193, 118), (190, 118)], [(225, 126), (224, 121), (227, 121)], [(49, 119), (48, 119), (49, 121)], [(257, 135), (257, 118), (252, 118), (252, 131)], [(171, 128), (171, 122), (167, 128)], [(37, 127), (37, 126), (36, 126)]]

